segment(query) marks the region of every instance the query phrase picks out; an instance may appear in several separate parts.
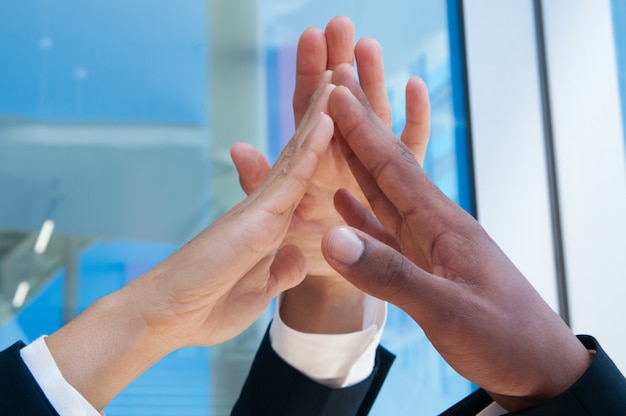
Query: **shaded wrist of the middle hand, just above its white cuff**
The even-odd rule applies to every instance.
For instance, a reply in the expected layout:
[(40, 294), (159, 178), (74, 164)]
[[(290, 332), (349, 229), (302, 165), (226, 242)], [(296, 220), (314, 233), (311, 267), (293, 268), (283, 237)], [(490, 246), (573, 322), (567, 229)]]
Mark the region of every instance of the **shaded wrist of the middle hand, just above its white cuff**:
[(344, 334), (363, 329), (365, 294), (341, 277), (307, 276), (286, 291), (282, 321), (310, 334)]

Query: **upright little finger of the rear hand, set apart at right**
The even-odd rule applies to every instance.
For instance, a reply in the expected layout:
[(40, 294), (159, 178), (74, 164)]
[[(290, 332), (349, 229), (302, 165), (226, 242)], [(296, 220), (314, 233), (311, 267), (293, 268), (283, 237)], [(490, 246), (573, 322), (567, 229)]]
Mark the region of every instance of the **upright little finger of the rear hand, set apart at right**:
[(411, 78), (406, 85), (406, 125), (402, 132), (402, 142), (420, 165), (424, 164), (424, 156), (430, 136), (430, 100), (428, 88), (420, 78)]

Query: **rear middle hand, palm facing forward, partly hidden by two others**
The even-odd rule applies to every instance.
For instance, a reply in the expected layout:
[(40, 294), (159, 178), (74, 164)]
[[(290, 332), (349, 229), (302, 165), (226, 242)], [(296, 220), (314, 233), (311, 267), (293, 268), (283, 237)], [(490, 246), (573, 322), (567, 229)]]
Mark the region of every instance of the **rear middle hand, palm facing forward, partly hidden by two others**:
[[(340, 64), (352, 65), (355, 59), (364, 100), (369, 100), (374, 112), (390, 128), (391, 108), (385, 86), (381, 47), (372, 39), (362, 39), (355, 47), (354, 27), (345, 17), (332, 19), (324, 32), (310, 28), (300, 37), (293, 97), (296, 125), (300, 123), (315, 85), (324, 71)], [(410, 85), (419, 82), (414, 80)], [(428, 97), (409, 87), (409, 123), (403, 137), (419, 160), (423, 160), (428, 143), (429, 111)], [(419, 126), (415, 120), (420, 121)], [(285, 244), (294, 244), (302, 249), (307, 259), (309, 278), (285, 294), (281, 317), (287, 325), (303, 332), (342, 333), (360, 330), (362, 326), (362, 316), (354, 312), (362, 310), (362, 292), (347, 284), (328, 266), (320, 249), (324, 233), (333, 226), (344, 224), (332, 203), (337, 189), (349, 189), (365, 202), (341, 154), (339, 142), (339, 139), (331, 141), (309, 189), (296, 209), (285, 238)], [(244, 158), (234, 161), (246, 192), (254, 190), (258, 178), (263, 178), (263, 173), (269, 170), (265, 158), (251, 146), (247, 148)]]

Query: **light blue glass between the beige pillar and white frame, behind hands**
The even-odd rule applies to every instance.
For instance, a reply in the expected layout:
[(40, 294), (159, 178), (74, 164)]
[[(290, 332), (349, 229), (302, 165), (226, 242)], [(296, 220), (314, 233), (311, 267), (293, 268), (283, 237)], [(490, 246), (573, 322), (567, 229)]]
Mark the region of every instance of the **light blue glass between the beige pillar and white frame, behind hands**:
[[(295, 53), (303, 28), (323, 28), (336, 14), (350, 16), (359, 37), (382, 44), (387, 87), (399, 135), (405, 123), (405, 86), (420, 76), (430, 90), (431, 141), (424, 168), (453, 200), (472, 212), (468, 165), (463, 57), (458, 2), (358, 1), (339, 6), (330, 0), (288, 2), (265, 0), (269, 152), (276, 157), (293, 134), (291, 94)], [(437, 414), (467, 395), (473, 386), (437, 354), (419, 326), (390, 306), (383, 345), (397, 354), (378, 396), (373, 415)]]

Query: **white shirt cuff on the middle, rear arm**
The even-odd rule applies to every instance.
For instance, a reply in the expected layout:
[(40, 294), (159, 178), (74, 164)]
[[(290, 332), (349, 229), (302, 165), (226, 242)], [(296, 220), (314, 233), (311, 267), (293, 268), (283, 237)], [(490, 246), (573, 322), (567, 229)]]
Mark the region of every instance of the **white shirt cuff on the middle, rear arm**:
[(363, 330), (348, 334), (307, 334), (289, 328), (280, 318), (280, 301), (270, 326), (272, 348), (289, 365), (327, 387), (348, 387), (372, 373), (387, 303), (365, 295)]

